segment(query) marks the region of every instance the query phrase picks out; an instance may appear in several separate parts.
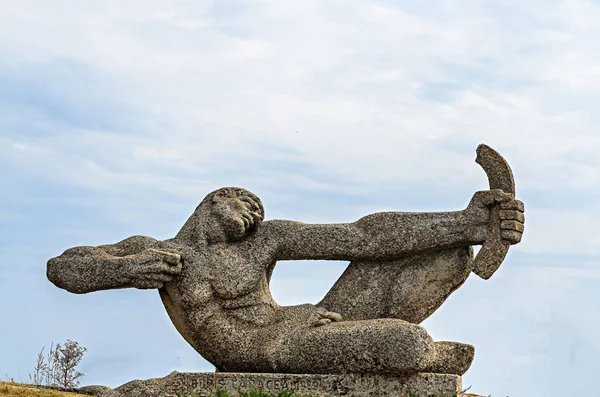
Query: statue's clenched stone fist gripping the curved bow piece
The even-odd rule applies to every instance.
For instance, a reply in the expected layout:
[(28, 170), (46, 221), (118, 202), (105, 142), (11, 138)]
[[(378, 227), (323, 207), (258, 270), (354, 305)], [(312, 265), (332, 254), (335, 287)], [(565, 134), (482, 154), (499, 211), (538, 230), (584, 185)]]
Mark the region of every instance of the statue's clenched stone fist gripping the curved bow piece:
[(485, 240), (489, 230), (490, 210), (495, 205), (500, 205), (498, 216), (502, 238), (511, 244), (519, 243), (525, 230), (525, 206), (520, 200), (515, 200), (512, 194), (499, 189), (475, 193), (465, 210), (467, 217), (475, 224), (477, 240)]

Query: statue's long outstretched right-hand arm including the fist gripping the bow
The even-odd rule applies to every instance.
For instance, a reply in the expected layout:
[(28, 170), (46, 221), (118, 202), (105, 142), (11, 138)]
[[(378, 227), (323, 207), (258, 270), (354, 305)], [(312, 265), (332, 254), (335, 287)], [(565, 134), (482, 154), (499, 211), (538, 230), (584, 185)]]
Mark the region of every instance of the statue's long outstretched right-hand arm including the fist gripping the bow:
[(268, 234), (279, 260), (389, 260), (482, 244), (488, 235), (490, 209), (496, 205), (500, 205), (502, 238), (517, 244), (523, 234), (524, 206), (501, 190), (475, 193), (462, 211), (380, 212), (354, 223), (329, 225), (271, 221)]

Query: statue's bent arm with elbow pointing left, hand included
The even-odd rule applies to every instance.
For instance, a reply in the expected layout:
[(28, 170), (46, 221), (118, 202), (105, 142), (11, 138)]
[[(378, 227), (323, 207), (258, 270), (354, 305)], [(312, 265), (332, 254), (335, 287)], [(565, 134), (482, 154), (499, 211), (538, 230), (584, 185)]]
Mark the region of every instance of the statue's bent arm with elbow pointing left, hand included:
[(116, 244), (70, 248), (48, 261), (46, 274), (57, 287), (78, 294), (159, 288), (181, 264), (179, 255), (154, 249), (157, 245), (151, 237), (133, 236)]

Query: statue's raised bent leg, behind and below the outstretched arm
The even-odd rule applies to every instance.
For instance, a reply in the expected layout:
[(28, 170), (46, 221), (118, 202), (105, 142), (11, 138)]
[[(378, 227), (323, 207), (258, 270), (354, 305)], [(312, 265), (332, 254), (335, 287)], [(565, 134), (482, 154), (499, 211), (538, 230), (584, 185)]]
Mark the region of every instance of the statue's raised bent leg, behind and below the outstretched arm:
[(355, 261), (317, 306), (344, 320), (396, 318), (419, 324), (465, 282), (472, 263), (471, 247), (393, 261)]

